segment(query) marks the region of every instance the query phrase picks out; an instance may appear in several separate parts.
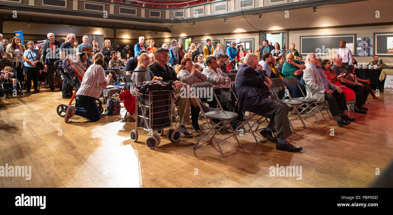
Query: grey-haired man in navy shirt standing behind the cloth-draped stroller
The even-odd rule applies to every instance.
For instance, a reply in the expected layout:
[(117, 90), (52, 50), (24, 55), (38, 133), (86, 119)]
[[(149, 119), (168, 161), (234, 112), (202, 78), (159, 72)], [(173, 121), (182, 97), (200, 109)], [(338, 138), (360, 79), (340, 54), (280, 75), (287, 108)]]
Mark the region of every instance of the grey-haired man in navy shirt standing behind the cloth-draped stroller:
[[(75, 35), (70, 33), (67, 35), (67, 41), (60, 46), (60, 59), (64, 60), (67, 55), (75, 55), (75, 49), (73, 48), (73, 43), (75, 42)], [(62, 87), (62, 98), (70, 99), (72, 97), (73, 86), (68, 83), (68, 81), (63, 81)]]

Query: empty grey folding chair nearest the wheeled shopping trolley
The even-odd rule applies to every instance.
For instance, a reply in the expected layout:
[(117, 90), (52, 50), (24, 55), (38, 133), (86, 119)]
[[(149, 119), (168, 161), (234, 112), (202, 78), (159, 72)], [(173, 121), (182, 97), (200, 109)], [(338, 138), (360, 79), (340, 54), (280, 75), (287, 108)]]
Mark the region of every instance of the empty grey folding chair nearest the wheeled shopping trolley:
[[(200, 84), (193, 85), (193, 87), (195, 87), (195, 89), (197, 90), (196, 92), (210, 92), (208, 89), (211, 88), (212, 86), (210, 84), (208, 84), (208, 83), (200, 83)], [(217, 132), (219, 132), (221, 129), (226, 127), (226, 125), (229, 125), (229, 127), (230, 127), (230, 129), (232, 131), (232, 135), (227, 137), (227, 138), (225, 138), (225, 139), (223, 139), (223, 140), (221, 140), (221, 141), (223, 142), (224, 140), (234, 136), (236, 141), (237, 141), (237, 143), (241, 147), (242, 145), (240, 144), (239, 139), (237, 139), (235, 130), (233, 130), (233, 128), (232, 128), (232, 126), (230, 124), (230, 121), (232, 119), (234, 119), (234, 118), (237, 118), (238, 114), (235, 113), (235, 112), (224, 111), (224, 109), (222, 109), (222, 106), (221, 106), (221, 104), (219, 102), (219, 99), (217, 98), (217, 95), (214, 93), (214, 91), (213, 91), (213, 95), (214, 95), (215, 99), (217, 100), (217, 103), (219, 104), (221, 110), (214, 110), (214, 111), (210, 111), (210, 112), (205, 113), (203, 111), (200, 103), (198, 103), (198, 106), (199, 106), (199, 108), (200, 108), (200, 110), (201, 110), (201, 112), (202, 112), (202, 114), (203, 114), (203, 116), (204, 116), (204, 118), (206, 120), (206, 123), (207, 123), (207, 125), (209, 127), (209, 131), (204, 133), (202, 136), (200, 136), (198, 141), (196, 141), (196, 143), (195, 143), (194, 149), (196, 149), (196, 147), (198, 147), (198, 146), (200, 146), (200, 145), (202, 145), (204, 143), (213, 143), (212, 140), (214, 139), (216, 144), (217, 144), (217, 146), (220, 149), (221, 155), (224, 157), (224, 153), (222, 152), (221, 147), (220, 147), (220, 142), (217, 141), (217, 138), (216, 138), (215, 134), (217, 134)], [(208, 119), (210, 121), (208, 121)], [(210, 124), (211, 123), (211, 119), (218, 119), (218, 120), (220, 120), (220, 122), (217, 123), (215, 126), (211, 127), (211, 124)], [(222, 126), (219, 129), (217, 129), (216, 131), (214, 131), (213, 129), (217, 128), (221, 123), (222, 123)], [(212, 134), (211, 138), (208, 141), (204, 141), (203, 143), (199, 143), (199, 141), (201, 141), (202, 138), (204, 136), (208, 135), (210, 132)]]

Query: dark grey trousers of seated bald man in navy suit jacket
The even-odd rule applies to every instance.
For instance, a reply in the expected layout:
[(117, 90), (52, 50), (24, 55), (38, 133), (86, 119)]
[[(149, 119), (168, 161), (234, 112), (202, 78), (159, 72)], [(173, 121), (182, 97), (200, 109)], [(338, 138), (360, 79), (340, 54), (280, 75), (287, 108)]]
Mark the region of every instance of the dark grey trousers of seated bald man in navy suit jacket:
[(277, 140), (284, 140), (292, 135), (292, 131), (288, 120), (289, 106), (282, 101), (273, 100), (270, 108), (261, 109), (255, 114), (259, 114), (270, 119), (268, 128), (275, 130), (277, 134)]

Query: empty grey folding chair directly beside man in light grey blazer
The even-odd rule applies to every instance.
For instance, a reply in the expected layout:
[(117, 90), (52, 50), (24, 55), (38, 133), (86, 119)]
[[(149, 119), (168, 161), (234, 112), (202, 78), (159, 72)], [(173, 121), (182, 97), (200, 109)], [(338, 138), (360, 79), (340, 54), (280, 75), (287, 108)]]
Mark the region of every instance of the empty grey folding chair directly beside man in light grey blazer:
[[(314, 116), (314, 118), (317, 121), (317, 124), (319, 124), (319, 121), (318, 121), (317, 117), (315, 116), (314, 111), (312, 110), (313, 108), (311, 108), (311, 105), (313, 103), (315, 103), (316, 101), (318, 101), (318, 100), (317, 99), (312, 99), (312, 98), (306, 98), (306, 96), (305, 96), (303, 90), (301, 90), (301, 86), (299, 85), (299, 82), (298, 82), (298, 80), (296, 78), (294, 78), (294, 77), (286, 77), (286, 78), (283, 78), (283, 81), (285, 83), (284, 87), (285, 87), (285, 91), (286, 92), (289, 92), (288, 91), (288, 86), (297, 86), (299, 91), (303, 95), (303, 97), (292, 98), (292, 96), (288, 93), (288, 96), (289, 96), (290, 99), (293, 99), (293, 100), (296, 100), (296, 101), (301, 101), (301, 102), (303, 102), (306, 105), (305, 108), (302, 108), (303, 110), (300, 111), (300, 114), (303, 113), (303, 111), (307, 110), (307, 108), (310, 109), (310, 111), (307, 112), (307, 114), (303, 117), (303, 119), (307, 119), (309, 117)], [(311, 112), (310, 116), (307, 116), (310, 112)], [(324, 119), (325, 119), (325, 117), (324, 117)], [(327, 123), (326, 119), (325, 119), (325, 122)]]

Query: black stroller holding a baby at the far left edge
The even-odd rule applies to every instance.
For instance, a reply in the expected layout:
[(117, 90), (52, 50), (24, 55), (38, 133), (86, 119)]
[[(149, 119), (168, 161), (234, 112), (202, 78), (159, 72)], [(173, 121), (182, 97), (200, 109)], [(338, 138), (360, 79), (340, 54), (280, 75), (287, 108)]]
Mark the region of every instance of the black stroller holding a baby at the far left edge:
[(14, 63), (8, 58), (0, 59), (0, 70), (4, 69), (4, 67), (6, 67), (6, 66), (11, 67), (11, 72), (13, 72), (13, 74), (14, 74), (12, 78), (17, 79), (17, 89), (13, 90), (12, 82), (5, 82), (4, 80), (0, 79), (0, 85), (1, 85), (0, 94), (2, 95), (3, 99), (7, 99), (7, 93), (13, 94), (13, 96), (16, 96), (18, 92), (19, 92), (20, 97), (25, 97), (26, 94), (24, 92), (22, 92), (22, 86), (20, 85), (20, 82), (17, 78), (16, 70), (14, 68)]

